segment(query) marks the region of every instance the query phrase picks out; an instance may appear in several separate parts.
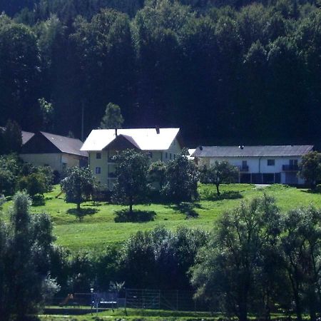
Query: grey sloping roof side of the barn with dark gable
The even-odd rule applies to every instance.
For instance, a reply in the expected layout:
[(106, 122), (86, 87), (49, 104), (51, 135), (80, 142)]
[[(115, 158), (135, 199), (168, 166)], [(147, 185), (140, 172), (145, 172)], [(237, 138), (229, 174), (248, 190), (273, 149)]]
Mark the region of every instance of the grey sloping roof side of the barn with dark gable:
[(52, 133), (45, 133), (44, 131), (40, 132), (44, 135), (48, 141), (54, 144), (62, 153), (68, 153), (78, 156), (88, 156), (86, 151), (81, 151), (81, 146), (83, 142), (76, 138), (70, 138), (66, 136), (59, 136)]

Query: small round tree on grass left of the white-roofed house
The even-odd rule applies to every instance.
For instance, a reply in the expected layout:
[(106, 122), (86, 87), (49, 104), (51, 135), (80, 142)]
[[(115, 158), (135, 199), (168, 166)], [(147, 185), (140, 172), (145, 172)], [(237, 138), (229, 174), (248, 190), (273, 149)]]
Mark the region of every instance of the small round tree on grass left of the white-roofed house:
[(78, 213), (81, 203), (88, 199), (96, 188), (96, 180), (89, 168), (73, 167), (61, 180), (61, 189), (66, 193), (67, 203), (76, 203)]

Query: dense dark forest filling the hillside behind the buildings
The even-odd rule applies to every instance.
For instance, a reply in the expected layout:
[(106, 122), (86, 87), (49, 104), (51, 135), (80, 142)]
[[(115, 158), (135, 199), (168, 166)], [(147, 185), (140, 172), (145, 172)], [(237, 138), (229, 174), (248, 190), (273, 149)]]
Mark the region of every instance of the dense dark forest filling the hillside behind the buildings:
[(80, 137), (82, 108), (86, 135), (113, 102), (123, 126), (179, 126), (189, 146), (320, 141), (319, 0), (0, 0), (0, 11), (0, 125)]

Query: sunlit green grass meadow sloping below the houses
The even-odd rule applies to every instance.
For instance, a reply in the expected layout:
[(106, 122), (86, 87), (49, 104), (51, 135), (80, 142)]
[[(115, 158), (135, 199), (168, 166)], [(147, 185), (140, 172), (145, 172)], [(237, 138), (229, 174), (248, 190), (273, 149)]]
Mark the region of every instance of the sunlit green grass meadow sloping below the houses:
[[(271, 185), (265, 188), (256, 188), (250, 184), (222, 185), (222, 195), (216, 197), (213, 185), (200, 185), (200, 200), (195, 203), (151, 204), (137, 205), (134, 209), (154, 211), (154, 220), (143, 223), (116, 223), (115, 211), (123, 206), (103, 202), (87, 202), (81, 207), (88, 215), (81, 222), (74, 215), (75, 204), (66, 203), (64, 195), (56, 198), (60, 192), (58, 185), (51, 193), (45, 194), (45, 205), (33, 205), (34, 213), (49, 213), (54, 222), (56, 242), (70, 250), (79, 248), (103, 248), (106, 245), (121, 243), (129, 235), (138, 230), (148, 230), (157, 225), (175, 229), (180, 225), (188, 228), (204, 228), (209, 230), (215, 220), (229, 208), (234, 208), (242, 200), (248, 200), (267, 193), (275, 197), (277, 205), (284, 212), (302, 205), (321, 207), (321, 193), (310, 193), (306, 189), (291, 188), (284, 185)], [(11, 202), (4, 206), (6, 210)]]

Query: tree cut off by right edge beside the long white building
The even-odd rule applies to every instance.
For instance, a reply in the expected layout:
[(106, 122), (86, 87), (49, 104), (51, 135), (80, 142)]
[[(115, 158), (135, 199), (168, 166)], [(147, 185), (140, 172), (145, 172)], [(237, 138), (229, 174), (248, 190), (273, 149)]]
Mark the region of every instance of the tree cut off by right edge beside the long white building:
[(311, 188), (315, 188), (317, 180), (321, 180), (321, 153), (313, 151), (302, 156), (298, 175), (304, 178)]

